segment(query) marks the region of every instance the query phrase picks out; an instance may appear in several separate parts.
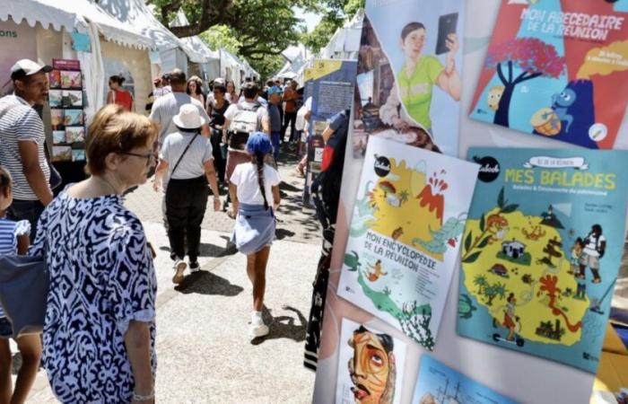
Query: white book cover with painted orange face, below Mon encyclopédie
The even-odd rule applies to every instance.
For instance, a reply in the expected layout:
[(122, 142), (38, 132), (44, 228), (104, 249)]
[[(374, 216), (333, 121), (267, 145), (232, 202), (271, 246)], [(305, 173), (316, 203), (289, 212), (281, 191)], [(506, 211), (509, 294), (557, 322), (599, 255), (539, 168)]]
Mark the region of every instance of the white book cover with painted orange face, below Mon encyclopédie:
[(343, 318), (336, 404), (400, 403), (405, 363), (402, 340)]

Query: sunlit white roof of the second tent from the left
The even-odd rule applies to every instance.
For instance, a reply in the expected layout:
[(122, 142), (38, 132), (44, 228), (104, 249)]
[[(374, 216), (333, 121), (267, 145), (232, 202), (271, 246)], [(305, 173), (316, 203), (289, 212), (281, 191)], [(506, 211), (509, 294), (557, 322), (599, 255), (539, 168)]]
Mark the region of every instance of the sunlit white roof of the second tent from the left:
[(144, 37), (151, 40), (153, 48), (160, 51), (181, 48), (191, 62), (205, 62), (206, 58), (200, 52), (188, 47), (155, 18), (153, 12), (144, 4), (144, 0), (100, 0), (99, 4), (109, 14), (115, 16), (119, 22), (133, 26), (135, 30), (140, 31)]

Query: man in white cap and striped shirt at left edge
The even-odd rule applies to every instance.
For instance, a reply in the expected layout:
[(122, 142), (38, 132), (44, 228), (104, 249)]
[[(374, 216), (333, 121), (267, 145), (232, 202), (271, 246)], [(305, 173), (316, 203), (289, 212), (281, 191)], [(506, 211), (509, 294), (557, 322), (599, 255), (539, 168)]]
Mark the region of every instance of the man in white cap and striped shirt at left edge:
[(0, 99), (0, 164), (13, 177), (13, 205), (7, 216), (31, 223), (31, 242), (37, 234), (37, 221), (52, 201), (48, 180), (44, 122), (33, 106), (48, 100), (50, 66), (22, 59), (11, 67), (13, 94)]

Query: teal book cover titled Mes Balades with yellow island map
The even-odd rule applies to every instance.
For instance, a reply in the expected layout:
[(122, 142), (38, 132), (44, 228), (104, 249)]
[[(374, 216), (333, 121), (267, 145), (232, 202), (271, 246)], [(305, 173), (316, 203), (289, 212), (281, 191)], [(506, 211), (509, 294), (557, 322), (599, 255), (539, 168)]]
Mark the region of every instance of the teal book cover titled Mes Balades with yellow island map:
[(628, 152), (471, 148), (458, 334), (595, 373), (624, 249)]

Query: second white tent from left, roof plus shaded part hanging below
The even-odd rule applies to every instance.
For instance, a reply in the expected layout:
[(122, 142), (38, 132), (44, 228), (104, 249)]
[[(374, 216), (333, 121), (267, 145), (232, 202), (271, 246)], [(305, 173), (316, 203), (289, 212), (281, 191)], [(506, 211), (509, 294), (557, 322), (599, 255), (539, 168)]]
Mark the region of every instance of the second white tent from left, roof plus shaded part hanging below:
[(99, 4), (120, 22), (134, 27), (152, 41), (153, 48), (160, 53), (161, 71), (179, 67), (187, 72), (188, 59), (193, 63), (204, 63), (207, 60), (200, 50), (189, 47), (164, 27), (144, 4), (144, 0), (100, 0)]

